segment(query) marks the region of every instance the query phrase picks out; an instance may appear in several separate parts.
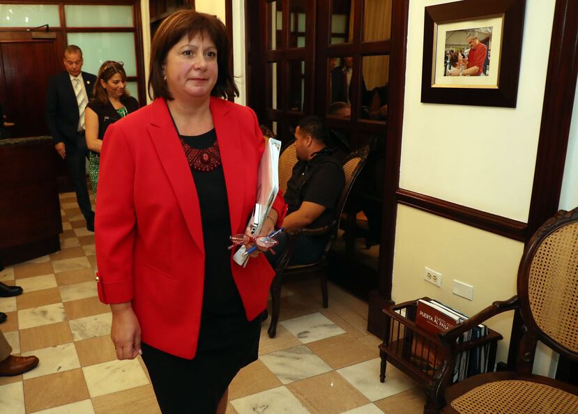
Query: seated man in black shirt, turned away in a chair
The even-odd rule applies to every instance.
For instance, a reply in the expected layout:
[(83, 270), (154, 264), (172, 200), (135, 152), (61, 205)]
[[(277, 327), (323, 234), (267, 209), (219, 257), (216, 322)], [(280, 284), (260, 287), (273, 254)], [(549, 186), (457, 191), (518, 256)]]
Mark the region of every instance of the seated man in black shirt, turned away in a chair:
[[(330, 148), (328, 128), (317, 116), (307, 116), (299, 121), (294, 145), (298, 162), (293, 167), (284, 194), (289, 209), (283, 227), (286, 231), (324, 227), (335, 217), (335, 207), (345, 184), (341, 162)], [(296, 236), (289, 264), (308, 264), (319, 260), (328, 237), (329, 234)], [(266, 253), (273, 267), (287, 245), (287, 234), (280, 233), (277, 240), (279, 245), (273, 249), (276, 254)]]

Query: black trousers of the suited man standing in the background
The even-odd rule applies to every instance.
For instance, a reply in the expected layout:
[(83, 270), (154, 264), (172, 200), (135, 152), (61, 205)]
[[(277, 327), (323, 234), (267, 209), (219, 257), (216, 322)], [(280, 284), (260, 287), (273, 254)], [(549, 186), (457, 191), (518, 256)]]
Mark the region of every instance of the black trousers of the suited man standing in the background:
[(66, 146), (66, 167), (68, 167), (68, 175), (73, 182), (73, 187), (76, 193), (76, 201), (80, 208), (86, 225), (94, 226), (94, 212), (91, 206), (89, 197), (89, 190), (86, 187), (86, 159), (89, 158), (89, 151), (86, 148), (86, 138), (84, 132), (79, 132), (76, 142), (70, 144), (65, 142)]

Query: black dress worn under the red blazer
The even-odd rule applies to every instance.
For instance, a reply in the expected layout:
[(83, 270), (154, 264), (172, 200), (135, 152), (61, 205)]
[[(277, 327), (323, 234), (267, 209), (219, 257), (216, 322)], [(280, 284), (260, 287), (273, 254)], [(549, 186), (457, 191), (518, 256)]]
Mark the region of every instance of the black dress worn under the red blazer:
[[(180, 136), (192, 148), (213, 146), (215, 130)], [(143, 359), (163, 413), (215, 413), (218, 401), (237, 372), (257, 360), (260, 319), (247, 321), (231, 273), (231, 224), (222, 166), (191, 168), (199, 195), (205, 277), (197, 355), (185, 360), (144, 345)], [(149, 366), (150, 365), (150, 366)]]

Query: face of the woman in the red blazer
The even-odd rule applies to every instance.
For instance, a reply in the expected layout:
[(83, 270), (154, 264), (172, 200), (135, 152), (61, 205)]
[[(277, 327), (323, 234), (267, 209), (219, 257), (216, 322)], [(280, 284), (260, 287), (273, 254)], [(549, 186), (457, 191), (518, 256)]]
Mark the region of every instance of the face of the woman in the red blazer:
[(176, 100), (208, 98), (217, 83), (217, 47), (208, 34), (184, 36), (169, 50), (162, 66), (169, 92)]

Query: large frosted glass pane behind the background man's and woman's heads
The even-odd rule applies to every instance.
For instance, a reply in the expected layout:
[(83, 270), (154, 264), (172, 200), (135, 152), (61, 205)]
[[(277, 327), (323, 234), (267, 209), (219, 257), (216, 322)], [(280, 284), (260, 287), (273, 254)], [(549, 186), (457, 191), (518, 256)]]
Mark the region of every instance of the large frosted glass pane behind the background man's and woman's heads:
[(68, 45), (82, 49), (82, 70), (96, 74), (104, 61), (124, 62), (127, 76), (137, 76), (134, 33), (68, 33)]

